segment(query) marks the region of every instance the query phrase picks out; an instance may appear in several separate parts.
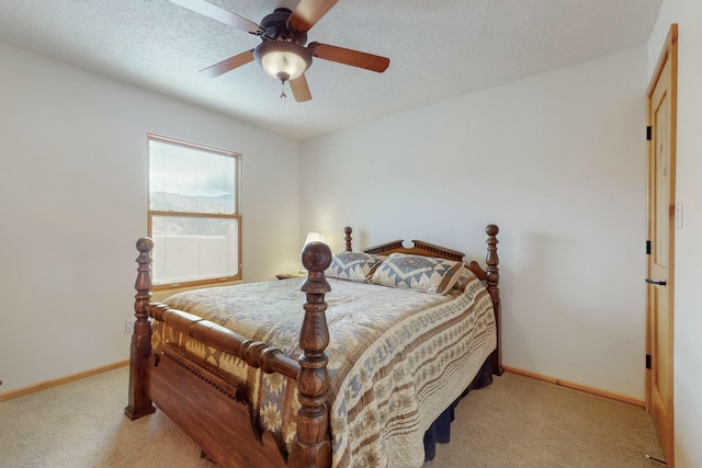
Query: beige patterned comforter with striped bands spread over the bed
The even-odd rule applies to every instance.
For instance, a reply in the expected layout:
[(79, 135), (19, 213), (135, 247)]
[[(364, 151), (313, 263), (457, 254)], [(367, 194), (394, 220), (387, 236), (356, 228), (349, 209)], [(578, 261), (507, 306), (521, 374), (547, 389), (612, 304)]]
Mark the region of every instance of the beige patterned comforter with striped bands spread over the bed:
[[(328, 279), (329, 399), (332, 466), (420, 467), (423, 434), (467, 387), (496, 346), (490, 296), (468, 271), (445, 295)], [(303, 279), (180, 293), (171, 308), (267, 342), (297, 358)], [(264, 374), (170, 327), (163, 340), (247, 384), (263, 430), (291, 447), (299, 404), (294, 379)]]

